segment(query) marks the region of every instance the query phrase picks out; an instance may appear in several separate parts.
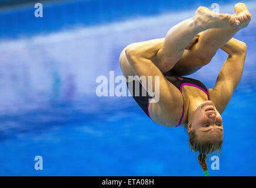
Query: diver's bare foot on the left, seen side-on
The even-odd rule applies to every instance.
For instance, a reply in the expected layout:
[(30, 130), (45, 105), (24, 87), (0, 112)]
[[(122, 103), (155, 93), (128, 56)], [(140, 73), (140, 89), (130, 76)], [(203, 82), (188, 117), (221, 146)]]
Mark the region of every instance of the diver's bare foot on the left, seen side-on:
[(202, 30), (210, 28), (236, 28), (239, 21), (230, 14), (218, 14), (210, 9), (200, 6), (195, 12), (194, 22)]

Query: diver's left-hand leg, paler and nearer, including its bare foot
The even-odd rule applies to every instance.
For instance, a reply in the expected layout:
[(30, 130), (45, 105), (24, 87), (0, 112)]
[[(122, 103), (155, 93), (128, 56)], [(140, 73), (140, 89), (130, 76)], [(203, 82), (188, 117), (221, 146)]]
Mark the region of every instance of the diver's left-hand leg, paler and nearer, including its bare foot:
[(182, 57), (194, 37), (211, 28), (235, 28), (235, 18), (230, 14), (217, 14), (200, 6), (195, 16), (172, 27), (165, 36), (162, 48), (151, 60), (162, 72), (167, 72)]

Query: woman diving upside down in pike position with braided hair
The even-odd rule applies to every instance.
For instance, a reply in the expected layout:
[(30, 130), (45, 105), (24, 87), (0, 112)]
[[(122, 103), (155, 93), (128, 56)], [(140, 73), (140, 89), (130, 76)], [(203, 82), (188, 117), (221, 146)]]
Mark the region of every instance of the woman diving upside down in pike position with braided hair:
[[(205, 159), (208, 153), (221, 151), (224, 137), (221, 113), (240, 82), (247, 48), (232, 38), (251, 21), (245, 4), (235, 5), (235, 14), (217, 14), (200, 6), (194, 17), (173, 26), (161, 39), (128, 45), (119, 63), (128, 82), (139, 82), (139, 92), (129, 88), (133, 98), (154, 122), (168, 127), (184, 126), (189, 147), (199, 152), (198, 161), (208, 176)], [(217, 50), (228, 53), (214, 88), (207, 89), (199, 80), (182, 76), (207, 65)], [(152, 76), (152, 89), (147, 83), (128, 76)], [(159, 76), (159, 100), (153, 101), (155, 76)]]

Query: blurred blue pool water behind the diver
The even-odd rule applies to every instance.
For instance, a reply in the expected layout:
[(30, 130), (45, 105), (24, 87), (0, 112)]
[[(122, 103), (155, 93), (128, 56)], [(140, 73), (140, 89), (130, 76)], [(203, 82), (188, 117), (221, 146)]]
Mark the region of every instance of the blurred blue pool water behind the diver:
[[(155, 2), (155, 1), (154, 1)], [(122, 75), (119, 53), (129, 43), (162, 38), (171, 26), (211, 1), (66, 1), (1, 9), (1, 176), (202, 176), (182, 127), (152, 122), (131, 97), (101, 97), (98, 76)], [(236, 1), (217, 1), (232, 13)], [(248, 28), (240, 85), (222, 114), (220, 170), (210, 176), (255, 176), (256, 4)], [(207, 88), (227, 58), (221, 50), (191, 75)], [(115, 84), (117, 85), (117, 84)], [(35, 170), (42, 156), (43, 170)]]

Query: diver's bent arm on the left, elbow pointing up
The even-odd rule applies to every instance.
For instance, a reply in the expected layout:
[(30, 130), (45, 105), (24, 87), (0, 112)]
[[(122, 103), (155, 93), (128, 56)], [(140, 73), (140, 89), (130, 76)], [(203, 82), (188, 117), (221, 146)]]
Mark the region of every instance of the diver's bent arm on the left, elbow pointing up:
[[(147, 80), (149, 80), (149, 76), (152, 78), (152, 83), (149, 82), (148, 84), (139, 80), (145, 89), (152, 85), (152, 91), (147, 90), (149, 95), (153, 96), (155, 93), (158, 95), (158, 102), (150, 104), (151, 118), (164, 126), (175, 125), (182, 113), (182, 108), (177, 109), (176, 107), (182, 106), (183, 99), (179, 90), (168, 82), (162, 72), (150, 60), (161, 48), (161, 41), (151, 41), (153, 42), (133, 43), (125, 48), (125, 54), (135, 75), (145, 76)], [(159, 88), (155, 88), (156, 82), (159, 83)]]

